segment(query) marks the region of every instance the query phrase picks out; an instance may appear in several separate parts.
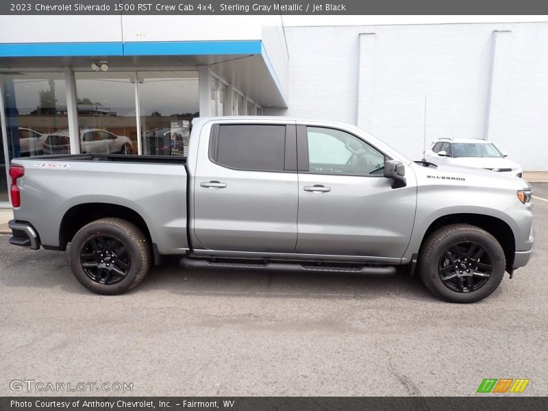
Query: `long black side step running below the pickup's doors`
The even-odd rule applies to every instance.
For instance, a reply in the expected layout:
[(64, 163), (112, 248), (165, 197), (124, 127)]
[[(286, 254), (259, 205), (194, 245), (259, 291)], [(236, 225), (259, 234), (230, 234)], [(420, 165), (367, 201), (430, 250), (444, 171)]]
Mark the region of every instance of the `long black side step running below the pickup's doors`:
[(295, 262), (219, 262), (185, 257), (181, 259), (181, 266), (187, 269), (251, 269), (269, 271), (315, 271), (322, 273), (343, 274), (373, 274), (393, 275), (396, 273), (394, 266), (335, 266), (329, 264), (295, 263)]

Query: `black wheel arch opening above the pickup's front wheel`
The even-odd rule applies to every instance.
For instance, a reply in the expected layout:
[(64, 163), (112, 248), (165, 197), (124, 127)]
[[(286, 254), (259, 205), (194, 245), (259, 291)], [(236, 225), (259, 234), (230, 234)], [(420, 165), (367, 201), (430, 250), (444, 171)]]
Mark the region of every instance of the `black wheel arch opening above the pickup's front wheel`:
[[(514, 264), (514, 256), (516, 251), (516, 242), (514, 238), (514, 232), (510, 228), (510, 225), (501, 219), (494, 216), (488, 216), (485, 214), (472, 214), (472, 213), (460, 213), (460, 214), (447, 214), (438, 217), (438, 219), (432, 221), (427, 230), (425, 231), (423, 238), (421, 239), (421, 248), (423, 247), (425, 240), (436, 229), (444, 227), (449, 224), (464, 223), (474, 225), (484, 229), (497, 239), (504, 251), (504, 257), (506, 258), (506, 271), (512, 272), (512, 265)], [(420, 253), (419, 249), (419, 253)]]

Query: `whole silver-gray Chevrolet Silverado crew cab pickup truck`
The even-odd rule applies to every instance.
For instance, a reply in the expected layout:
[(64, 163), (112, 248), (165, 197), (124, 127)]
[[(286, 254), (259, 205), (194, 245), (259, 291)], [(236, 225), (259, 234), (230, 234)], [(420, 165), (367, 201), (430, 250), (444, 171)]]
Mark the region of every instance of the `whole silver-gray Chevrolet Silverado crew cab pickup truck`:
[(13, 245), (65, 250), (99, 294), (184, 267), (394, 273), (471, 303), (530, 260), (531, 187), (493, 171), (412, 162), (350, 125), (197, 119), (188, 158), (12, 161)]

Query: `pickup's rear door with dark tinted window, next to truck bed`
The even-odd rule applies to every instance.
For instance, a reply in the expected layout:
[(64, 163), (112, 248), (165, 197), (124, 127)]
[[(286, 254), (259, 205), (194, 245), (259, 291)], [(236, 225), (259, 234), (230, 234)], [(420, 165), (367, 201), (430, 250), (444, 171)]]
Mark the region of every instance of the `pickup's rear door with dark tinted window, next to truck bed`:
[(193, 187), (199, 243), (219, 251), (293, 253), (295, 122), (216, 124), (203, 133)]

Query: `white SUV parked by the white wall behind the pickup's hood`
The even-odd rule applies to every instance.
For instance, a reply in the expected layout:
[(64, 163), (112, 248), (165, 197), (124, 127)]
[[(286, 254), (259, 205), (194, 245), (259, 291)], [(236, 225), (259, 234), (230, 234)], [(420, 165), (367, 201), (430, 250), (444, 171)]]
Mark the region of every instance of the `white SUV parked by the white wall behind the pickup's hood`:
[(507, 156), (493, 142), (477, 138), (438, 138), (425, 152), (425, 160), (434, 164), (475, 167), (521, 177), (521, 167)]

